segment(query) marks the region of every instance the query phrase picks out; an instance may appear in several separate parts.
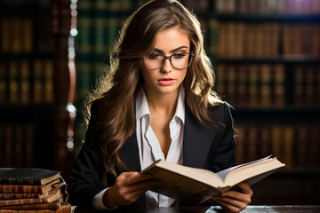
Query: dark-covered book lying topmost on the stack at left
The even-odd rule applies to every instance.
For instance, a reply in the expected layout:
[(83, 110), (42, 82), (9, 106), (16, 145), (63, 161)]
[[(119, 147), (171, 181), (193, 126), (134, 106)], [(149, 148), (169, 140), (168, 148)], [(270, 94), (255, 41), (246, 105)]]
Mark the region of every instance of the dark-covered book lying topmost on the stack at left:
[(45, 185), (60, 177), (59, 171), (35, 168), (1, 168), (1, 185)]

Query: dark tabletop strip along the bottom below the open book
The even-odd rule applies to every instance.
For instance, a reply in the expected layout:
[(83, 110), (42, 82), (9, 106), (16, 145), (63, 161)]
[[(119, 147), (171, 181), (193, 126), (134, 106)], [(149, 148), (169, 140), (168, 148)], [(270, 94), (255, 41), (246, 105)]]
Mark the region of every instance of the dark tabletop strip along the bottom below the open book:
[[(160, 208), (119, 208), (112, 211), (88, 211), (73, 207), (74, 213), (92, 213), (92, 212), (115, 212), (115, 213), (222, 213), (219, 206), (212, 207), (160, 207)], [(248, 206), (241, 213), (318, 213), (320, 205), (304, 206), (304, 205), (287, 205), (287, 206)]]

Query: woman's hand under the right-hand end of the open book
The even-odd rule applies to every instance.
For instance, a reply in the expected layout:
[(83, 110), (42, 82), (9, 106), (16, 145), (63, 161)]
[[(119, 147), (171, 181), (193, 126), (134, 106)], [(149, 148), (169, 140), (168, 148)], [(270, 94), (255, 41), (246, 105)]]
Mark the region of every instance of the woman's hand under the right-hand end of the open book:
[(241, 191), (228, 191), (222, 193), (221, 196), (213, 197), (212, 200), (219, 203), (223, 210), (229, 213), (240, 212), (247, 207), (251, 202), (252, 189), (249, 185), (241, 183), (238, 184)]

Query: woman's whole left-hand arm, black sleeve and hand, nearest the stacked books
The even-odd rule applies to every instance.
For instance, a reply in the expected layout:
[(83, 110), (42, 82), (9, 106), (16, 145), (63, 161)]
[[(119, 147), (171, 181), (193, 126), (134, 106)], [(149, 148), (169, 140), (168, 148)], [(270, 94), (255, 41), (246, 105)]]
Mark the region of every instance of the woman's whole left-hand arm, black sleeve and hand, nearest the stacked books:
[[(92, 105), (92, 107), (95, 107)], [(78, 154), (74, 167), (68, 176), (69, 202), (93, 209), (93, 198), (106, 187), (108, 190), (98, 199), (107, 208), (124, 206), (137, 201), (142, 193), (154, 185), (154, 181), (138, 172), (124, 172), (117, 178), (107, 174), (107, 185), (101, 182), (106, 170), (100, 155), (99, 133), (96, 130), (96, 112), (92, 108), (92, 117), (85, 136), (85, 142)], [(96, 197), (97, 199), (97, 197)], [(95, 201), (96, 201), (95, 199)]]

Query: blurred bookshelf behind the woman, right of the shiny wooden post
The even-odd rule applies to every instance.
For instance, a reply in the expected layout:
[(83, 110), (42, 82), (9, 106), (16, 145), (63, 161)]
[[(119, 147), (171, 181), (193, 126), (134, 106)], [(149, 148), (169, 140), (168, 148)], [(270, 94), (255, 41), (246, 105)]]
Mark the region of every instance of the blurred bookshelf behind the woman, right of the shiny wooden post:
[[(78, 3), (75, 155), (84, 139), (83, 101), (123, 21), (144, 2)], [(319, 203), (320, 1), (180, 2), (201, 22), (215, 89), (235, 106), (237, 162), (274, 153), (287, 164), (253, 185), (252, 204)]]

